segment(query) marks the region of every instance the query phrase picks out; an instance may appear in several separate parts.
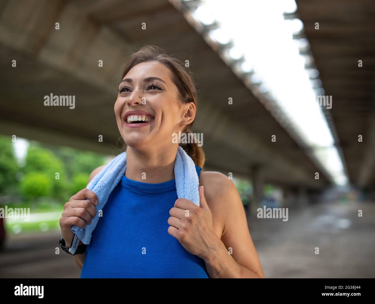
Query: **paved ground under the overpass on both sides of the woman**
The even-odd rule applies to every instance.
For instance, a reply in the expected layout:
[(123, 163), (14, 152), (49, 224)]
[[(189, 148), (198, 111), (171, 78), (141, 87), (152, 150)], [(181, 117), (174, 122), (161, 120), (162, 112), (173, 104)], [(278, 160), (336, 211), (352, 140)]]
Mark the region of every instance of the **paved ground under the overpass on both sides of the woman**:
[[(249, 228), (268, 278), (375, 277), (374, 219), (374, 203), (317, 204), (289, 209), (287, 222), (254, 215)], [(79, 277), (72, 256), (55, 254), (59, 238), (59, 231), (10, 237), (0, 252), (0, 277)]]

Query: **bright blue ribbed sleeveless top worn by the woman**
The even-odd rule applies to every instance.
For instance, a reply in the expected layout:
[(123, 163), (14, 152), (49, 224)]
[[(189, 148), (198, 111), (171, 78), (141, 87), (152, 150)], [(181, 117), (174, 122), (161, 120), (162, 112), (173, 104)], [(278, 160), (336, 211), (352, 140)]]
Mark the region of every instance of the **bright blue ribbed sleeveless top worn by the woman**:
[(81, 278), (209, 278), (203, 259), (168, 233), (176, 200), (174, 179), (152, 184), (124, 175), (86, 247)]

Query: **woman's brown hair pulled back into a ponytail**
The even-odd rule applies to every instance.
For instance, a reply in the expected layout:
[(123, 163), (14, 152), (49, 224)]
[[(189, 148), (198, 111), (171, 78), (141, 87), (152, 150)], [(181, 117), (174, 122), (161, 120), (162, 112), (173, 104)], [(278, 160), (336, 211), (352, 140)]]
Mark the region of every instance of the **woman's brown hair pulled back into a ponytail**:
[[(197, 92), (193, 78), (191, 76), (192, 72), (190, 69), (185, 68), (181, 60), (173, 57), (172, 55), (166, 54), (166, 52), (159, 46), (146, 45), (140, 48), (138, 51), (130, 55), (129, 61), (126, 63), (126, 66), (123, 69), (121, 80), (125, 75), (132, 69), (132, 67), (137, 64), (145, 61), (157, 61), (164, 64), (172, 72), (172, 82), (177, 86), (179, 96), (178, 98), (183, 103), (193, 102), (197, 106)], [(186, 125), (184, 130), (181, 133), (192, 133), (191, 127), (194, 121), (189, 125)], [(194, 143), (179, 144), (184, 151), (189, 155), (195, 165), (203, 167), (204, 165), (204, 152), (203, 149), (198, 146), (196, 140)]]

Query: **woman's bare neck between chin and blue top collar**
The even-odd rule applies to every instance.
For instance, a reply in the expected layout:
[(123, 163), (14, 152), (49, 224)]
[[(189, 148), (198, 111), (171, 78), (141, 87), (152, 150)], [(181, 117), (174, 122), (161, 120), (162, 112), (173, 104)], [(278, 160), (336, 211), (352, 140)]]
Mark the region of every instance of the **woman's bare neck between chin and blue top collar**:
[(144, 183), (163, 183), (174, 179), (174, 160), (178, 146), (158, 151), (126, 149), (126, 171), (128, 179)]

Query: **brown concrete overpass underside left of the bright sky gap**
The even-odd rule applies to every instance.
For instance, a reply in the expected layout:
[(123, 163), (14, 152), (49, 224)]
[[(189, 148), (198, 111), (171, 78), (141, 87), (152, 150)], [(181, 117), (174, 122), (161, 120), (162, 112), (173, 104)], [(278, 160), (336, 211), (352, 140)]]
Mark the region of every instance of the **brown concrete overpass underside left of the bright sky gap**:
[[(0, 1), (0, 133), (118, 153), (113, 106), (121, 67), (145, 44), (190, 60), (199, 78), (193, 131), (204, 134), (206, 170), (249, 177), (261, 167), (268, 182), (327, 185), (324, 174), (314, 179), (321, 168), (167, 0)], [(331, 76), (318, 68), (329, 92)], [(75, 109), (45, 107), (43, 97), (51, 93), (75, 95)]]

